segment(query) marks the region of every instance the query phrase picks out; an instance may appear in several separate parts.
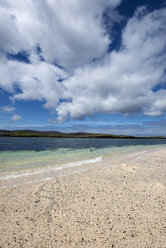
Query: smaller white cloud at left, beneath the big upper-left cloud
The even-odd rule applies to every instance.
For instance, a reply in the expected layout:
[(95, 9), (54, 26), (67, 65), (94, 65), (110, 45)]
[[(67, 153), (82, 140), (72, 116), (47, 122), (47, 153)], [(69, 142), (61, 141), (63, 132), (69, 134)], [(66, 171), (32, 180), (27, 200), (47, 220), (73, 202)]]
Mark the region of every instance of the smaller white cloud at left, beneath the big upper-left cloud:
[(63, 87), (57, 80), (67, 75), (63, 70), (42, 61), (26, 64), (8, 60), (5, 65), (1, 67), (5, 85), (2, 87), (11, 92), (15, 87), (19, 88), (21, 92), (14, 94), (15, 100), (39, 100), (45, 101), (47, 108), (57, 106), (59, 97), (63, 95)]

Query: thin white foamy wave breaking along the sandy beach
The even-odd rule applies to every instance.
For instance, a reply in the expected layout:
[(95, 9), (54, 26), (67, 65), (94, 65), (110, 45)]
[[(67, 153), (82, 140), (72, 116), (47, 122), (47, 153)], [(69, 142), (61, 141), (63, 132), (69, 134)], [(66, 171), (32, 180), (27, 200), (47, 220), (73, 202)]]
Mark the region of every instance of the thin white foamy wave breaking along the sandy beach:
[(59, 167), (47, 167), (45, 169), (40, 169), (40, 170), (33, 171), (33, 172), (32, 171), (26, 171), (22, 174), (7, 175), (7, 176), (0, 177), (0, 180), (7, 180), (7, 179), (12, 179), (12, 178), (32, 176), (32, 175), (41, 174), (41, 173), (45, 173), (45, 172), (62, 170), (62, 169), (70, 168), (70, 167), (81, 166), (81, 165), (85, 165), (85, 164), (92, 164), (92, 163), (96, 163), (96, 162), (100, 162), (100, 161), (102, 161), (101, 156), (96, 157), (95, 159), (81, 160), (81, 161), (62, 164)]

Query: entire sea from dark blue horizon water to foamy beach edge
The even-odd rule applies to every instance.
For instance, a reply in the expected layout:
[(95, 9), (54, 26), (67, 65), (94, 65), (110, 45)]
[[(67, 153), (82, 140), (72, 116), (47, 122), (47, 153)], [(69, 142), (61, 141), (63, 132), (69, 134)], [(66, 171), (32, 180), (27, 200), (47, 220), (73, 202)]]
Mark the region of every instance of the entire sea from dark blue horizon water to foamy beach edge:
[(163, 146), (166, 139), (0, 137), (0, 187), (52, 180), (66, 171), (102, 166), (106, 157)]

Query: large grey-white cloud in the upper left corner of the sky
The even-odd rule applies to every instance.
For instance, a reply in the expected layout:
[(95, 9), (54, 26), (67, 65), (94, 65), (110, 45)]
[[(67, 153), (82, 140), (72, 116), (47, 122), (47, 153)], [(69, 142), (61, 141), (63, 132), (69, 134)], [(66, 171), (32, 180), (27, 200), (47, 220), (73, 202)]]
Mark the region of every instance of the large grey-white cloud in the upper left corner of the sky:
[(17, 53), (37, 44), (47, 62), (74, 66), (105, 54), (107, 6), (121, 0), (6, 0), (0, 4), (0, 50)]

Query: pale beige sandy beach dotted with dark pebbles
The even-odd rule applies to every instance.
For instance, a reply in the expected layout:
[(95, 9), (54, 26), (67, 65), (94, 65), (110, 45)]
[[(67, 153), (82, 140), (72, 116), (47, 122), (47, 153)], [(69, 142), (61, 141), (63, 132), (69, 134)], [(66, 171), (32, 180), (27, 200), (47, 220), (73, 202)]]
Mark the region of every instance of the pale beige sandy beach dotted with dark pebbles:
[(166, 247), (166, 149), (0, 189), (0, 247)]

